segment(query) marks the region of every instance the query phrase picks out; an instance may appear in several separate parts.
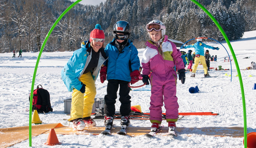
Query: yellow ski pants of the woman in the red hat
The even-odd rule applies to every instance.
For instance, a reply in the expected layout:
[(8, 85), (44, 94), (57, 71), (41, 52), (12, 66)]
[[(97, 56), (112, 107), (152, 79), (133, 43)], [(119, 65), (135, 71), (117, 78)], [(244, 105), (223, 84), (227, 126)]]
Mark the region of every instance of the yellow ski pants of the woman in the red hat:
[(85, 94), (81, 93), (77, 89), (73, 89), (72, 102), (71, 102), (71, 118), (68, 121), (72, 121), (77, 118), (90, 117), (92, 112), (92, 106), (94, 98), (96, 96), (95, 83), (92, 78), (91, 72), (83, 74), (79, 81), (84, 83)]

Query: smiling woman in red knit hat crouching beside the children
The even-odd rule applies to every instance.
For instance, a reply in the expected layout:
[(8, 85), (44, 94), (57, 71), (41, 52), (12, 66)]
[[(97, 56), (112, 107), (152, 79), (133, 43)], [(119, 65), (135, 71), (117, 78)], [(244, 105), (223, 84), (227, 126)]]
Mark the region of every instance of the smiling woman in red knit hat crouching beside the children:
[(61, 77), (69, 92), (72, 92), (71, 118), (74, 130), (83, 130), (85, 126), (96, 126), (91, 118), (92, 106), (96, 95), (95, 81), (101, 65), (107, 59), (104, 52), (105, 35), (100, 24), (90, 33), (90, 39), (81, 43), (81, 48), (61, 71)]

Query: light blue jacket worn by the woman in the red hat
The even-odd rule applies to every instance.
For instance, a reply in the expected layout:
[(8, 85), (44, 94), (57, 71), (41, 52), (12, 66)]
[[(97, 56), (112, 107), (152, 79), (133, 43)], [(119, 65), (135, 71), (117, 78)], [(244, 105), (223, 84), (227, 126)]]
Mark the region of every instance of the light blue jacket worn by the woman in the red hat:
[[(61, 71), (61, 77), (66, 85), (69, 92), (73, 91), (73, 88), (80, 90), (82, 87), (82, 83), (78, 80), (81, 75), (84, 73), (86, 67), (88, 66), (91, 60), (92, 50), (88, 50), (90, 48), (90, 41), (88, 40), (81, 43), (81, 48), (73, 52), (73, 56), (68, 60), (67, 64), (63, 67)], [(88, 52), (90, 51), (90, 52)], [(98, 65), (96, 68), (91, 70), (92, 77), (94, 82), (96, 81), (101, 65), (106, 61), (106, 57), (104, 58), (104, 49), (100, 49), (100, 56)], [(86, 85), (86, 84), (85, 84)]]

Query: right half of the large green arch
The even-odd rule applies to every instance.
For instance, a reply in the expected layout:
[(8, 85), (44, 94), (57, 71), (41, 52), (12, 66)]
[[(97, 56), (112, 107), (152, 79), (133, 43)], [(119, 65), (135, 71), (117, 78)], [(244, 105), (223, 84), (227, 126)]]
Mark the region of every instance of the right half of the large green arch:
[(243, 101), (243, 115), (244, 115), (244, 148), (247, 147), (247, 122), (246, 122), (246, 106), (245, 106), (245, 96), (244, 96), (244, 86), (243, 86), (243, 81), (242, 81), (242, 76), (241, 76), (241, 72), (240, 72), (240, 68), (239, 68), (239, 65), (238, 65), (238, 62), (236, 60), (236, 57), (235, 57), (235, 53), (234, 53), (234, 50), (229, 42), (229, 39), (226, 35), (226, 33), (223, 31), (223, 29), (221, 28), (220, 24), (217, 22), (217, 20), (212, 16), (212, 14), (210, 14), (204, 6), (202, 6), (199, 2), (197, 2), (196, 0), (191, 0), (193, 3), (195, 3), (197, 6), (199, 6), (213, 21), (214, 23), (216, 24), (216, 26), (219, 28), (220, 32), (222, 33), (223, 37), (225, 38), (228, 46), (229, 46), (229, 49), (232, 53), (232, 56), (233, 56), (233, 60), (235, 62), (235, 67), (236, 67), (236, 70), (237, 70), (237, 73), (238, 73), (238, 77), (239, 77), (239, 82), (240, 82), (240, 88), (241, 88), (241, 94), (242, 94), (242, 101)]

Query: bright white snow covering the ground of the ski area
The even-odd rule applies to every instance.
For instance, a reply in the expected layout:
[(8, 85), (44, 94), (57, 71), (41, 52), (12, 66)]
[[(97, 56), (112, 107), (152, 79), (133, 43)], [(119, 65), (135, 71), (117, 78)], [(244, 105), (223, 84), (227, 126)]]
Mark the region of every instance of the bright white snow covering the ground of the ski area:
[[(231, 69), (229, 62), (224, 62), (228, 54), (226, 50), (216, 43), (207, 45), (219, 47), (220, 50), (211, 50), (211, 55), (217, 55), (217, 62), (211, 62), (210, 67), (222, 66), (224, 69)], [(223, 43), (232, 58), (229, 47)], [(245, 32), (240, 40), (231, 42), (240, 69), (251, 66), (256, 62), (256, 31)], [(138, 49), (139, 57), (142, 59), (144, 49)], [(189, 50), (189, 49), (186, 49)], [(194, 49), (192, 49), (194, 52)], [(28, 126), (29, 123), (29, 101), (31, 82), (39, 53), (23, 53), (22, 58), (12, 58), (12, 53), (0, 54), (0, 128)], [(35, 86), (41, 84), (50, 92), (53, 112), (46, 115), (39, 114), (43, 124), (61, 123), (69, 126), (68, 119), (64, 113), (64, 99), (71, 98), (61, 80), (60, 72), (66, 64), (72, 52), (43, 52), (36, 75)], [(244, 57), (249, 57), (244, 59)], [(203, 78), (203, 67), (199, 66), (196, 71), (196, 78), (190, 78), (191, 72), (186, 72), (185, 84), (178, 81), (177, 97), (180, 105), (179, 112), (214, 112), (218, 116), (185, 116), (178, 120), (177, 127), (202, 128), (202, 127), (243, 127), (242, 96), (234, 61), (232, 63), (232, 82), (225, 76), (231, 74), (231, 70), (209, 71), (213, 78)], [(256, 132), (256, 90), (253, 85), (256, 83), (256, 70), (241, 70), (247, 113), (247, 132)], [(252, 75), (253, 77), (248, 77)], [(107, 82), (101, 84), (97, 79), (96, 98), (104, 98)], [(142, 82), (138, 82), (138, 85)], [(137, 84), (136, 84), (137, 85)], [(198, 86), (200, 93), (190, 94), (189, 88)], [(136, 89), (136, 88), (134, 88)], [(131, 91), (131, 105), (141, 105), (142, 112), (149, 112), (150, 91)], [(119, 111), (120, 102), (117, 100), (116, 109)], [(165, 109), (163, 108), (163, 112)], [(120, 120), (115, 124), (119, 126)], [(167, 126), (166, 122), (162, 122)], [(97, 126), (103, 126), (103, 120), (97, 120)], [(70, 124), (71, 126), (71, 124)], [(131, 120), (131, 127), (150, 127), (149, 120)], [(144, 136), (123, 136), (123, 135), (61, 135), (57, 134), (61, 145), (47, 146), (48, 134), (41, 134), (32, 138), (33, 147), (243, 147), (243, 137), (215, 137), (202, 134), (179, 134), (176, 139), (167, 136), (155, 136), (147, 138)], [(13, 147), (28, 147), (29, 141), (15, 144)]]

